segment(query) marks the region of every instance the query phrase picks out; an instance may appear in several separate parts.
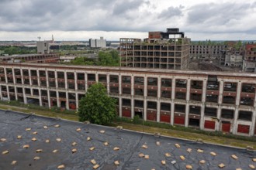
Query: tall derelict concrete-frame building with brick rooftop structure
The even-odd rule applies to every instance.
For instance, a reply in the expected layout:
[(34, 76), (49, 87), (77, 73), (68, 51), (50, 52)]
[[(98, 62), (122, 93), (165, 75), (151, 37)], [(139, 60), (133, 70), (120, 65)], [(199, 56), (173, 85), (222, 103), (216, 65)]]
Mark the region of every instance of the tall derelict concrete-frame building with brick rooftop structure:
[(165, 70), (188, 68), (190, 39), (184, 37), (184, 32), (167, 29), (167, 32), (148, 34), (144, 41), (120, 39), (121, 66)]

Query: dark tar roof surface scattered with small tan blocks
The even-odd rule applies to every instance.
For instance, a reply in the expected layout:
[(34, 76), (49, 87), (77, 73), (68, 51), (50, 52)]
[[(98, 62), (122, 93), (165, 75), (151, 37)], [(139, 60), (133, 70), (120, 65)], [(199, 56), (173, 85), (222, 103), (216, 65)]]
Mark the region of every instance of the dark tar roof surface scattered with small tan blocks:
[[(55, 127), (57, 124), (59, 128)], [(98, 169), (107, 170), (185, 169), (186, 165), (192, 165), (193, 169), (220, 169), (218, 165), (221, 163), (225, 165), (224, 169), (249, 169), (249, 165), (256, 165), (253, 162), (256, 153), (245, 149), (199, 144), (12, 111), (0, 110), (0, 128), (0, 169), (57, 169), (58, 165), (64, 165), (65, 169), (93, 169), (92, 159), (99, 165)], [(22, 138), (18, 139), (18, 135)], [(91, 140), (88, 141), (88, 137)], [(36, 141), (32, 141), (33, 138)], [(57, 138), (61, 138), (61, 141), (57, 141)], [(106, 141), (109, 145), (104, 145)], [(77, 144), (71, 145), (73, 142)], [(176, 148), (175, 144), (180, 145), (180, 148)], [(23, 148), (24, 145), (29, 145), (29, 148)], [(143, 145), (147, 147), (143, 148)], [(90, 151), (92, 147), (95, 149)], [(114, 151), (116, 147), (119, 150)], [(77, 151), (72, 153), (74, 148)], [(188, 152), (188, 148), (192, 151)], [(37, 149), (42, 150), (36, 153)], [(56, 149), (57, 152), (53, 153)], [(203, 152), (199, 153), (198, 149)], [(9, 153), (4, 154), (4, 151)], [(140, 158), (140, 153), (149, 155), (149, 158)], [(165, 156), (166, 153), (171, 156)], [(184, 161), (181, 155), (185, 157)], [(236, 155), (237, 159), (231, 155)], [(35, 157), (40, 159), (34, 160)], [(200, 164), (201, 160), (206, 163)], [(17, 162), (11, 165), (12, 161)], [(119, 165), (114, 165), (115, 161), (119, 161)], [(161, 161), (166, 161), (166, 165), (162, 165)]]

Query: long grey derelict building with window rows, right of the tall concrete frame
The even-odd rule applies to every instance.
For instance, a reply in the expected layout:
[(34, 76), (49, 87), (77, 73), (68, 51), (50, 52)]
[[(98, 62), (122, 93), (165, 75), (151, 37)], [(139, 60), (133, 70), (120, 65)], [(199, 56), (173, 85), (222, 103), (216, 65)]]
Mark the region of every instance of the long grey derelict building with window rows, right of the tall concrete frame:
[(203, 60), (203, 59), (220, 59), (221, 51), (225, 49), (225, 45), (199, 45), (192, 44), (190, 46), (190, 60)]

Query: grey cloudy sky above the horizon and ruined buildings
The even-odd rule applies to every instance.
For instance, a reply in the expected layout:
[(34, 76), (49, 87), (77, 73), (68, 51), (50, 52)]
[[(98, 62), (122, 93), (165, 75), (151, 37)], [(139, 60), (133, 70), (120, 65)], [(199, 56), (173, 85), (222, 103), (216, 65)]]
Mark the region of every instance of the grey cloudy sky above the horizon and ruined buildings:
[(255, 40), (256, 0), (0, 0), (0, 41), (143, 39), (172, 27), (192, 40)]

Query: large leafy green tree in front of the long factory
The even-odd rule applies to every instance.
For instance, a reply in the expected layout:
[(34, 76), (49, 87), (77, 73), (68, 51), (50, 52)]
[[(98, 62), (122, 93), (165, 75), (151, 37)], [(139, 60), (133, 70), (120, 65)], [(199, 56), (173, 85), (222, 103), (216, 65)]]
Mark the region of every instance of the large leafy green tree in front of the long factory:
[(116, 100), (109, 97), (102, 83), (92, 84), (78, 108), (79, 121), (107, 124), (116, 117)]

